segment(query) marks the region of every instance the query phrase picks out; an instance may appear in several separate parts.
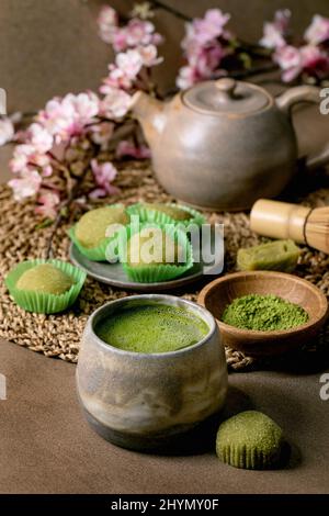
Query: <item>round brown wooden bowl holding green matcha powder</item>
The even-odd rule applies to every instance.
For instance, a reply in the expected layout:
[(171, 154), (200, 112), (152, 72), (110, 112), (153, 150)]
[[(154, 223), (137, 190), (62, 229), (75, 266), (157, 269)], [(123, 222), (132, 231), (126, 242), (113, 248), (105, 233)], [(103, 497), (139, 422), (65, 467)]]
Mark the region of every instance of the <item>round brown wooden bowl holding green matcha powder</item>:
[[(222, 315), (235, 299), (247, 294), (274, 294), (303, 306), (309, 321), (296, 328), (280, 332), (240, 329), (223, 323)], [(324, 326), (328, 302), (321, 291), (296, 276), (284, 272), (236, 272), (207, 284), (197, 302), (216, 318), (224, 343), (250, 356), (280, 355), (311, 341)]]

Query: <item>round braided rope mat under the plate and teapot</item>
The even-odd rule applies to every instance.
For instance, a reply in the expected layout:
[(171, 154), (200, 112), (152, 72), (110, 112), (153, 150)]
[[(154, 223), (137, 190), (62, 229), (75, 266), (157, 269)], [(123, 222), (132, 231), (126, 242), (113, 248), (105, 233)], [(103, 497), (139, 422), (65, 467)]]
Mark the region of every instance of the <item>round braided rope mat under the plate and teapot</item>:
[[(171, 200), (154, 179), (149, 166), (129, 162), (120, 171), (117, 186), (121, 192), (113, 198), (113, 202), (123, 201), (133, 203), (137, 200), (163, 202)], [(328, 204), (329, 190), (319, 190), (309, 195), (307, 203), (313, 205)], [(109, 201), (109, 200), (107, 200)], [(112, 200), (111, 200), (112, 201)], [(88, 316), (104, 302), (124, 298), (132, 292), (125, 292), (88, 279), (76, 305), (60, 315), (41, 315), (24, 312), (16, 306), (3, 283), (3, 277), (19, 261), (42, 258), (45, 256), (47, 239), (52, 227), (38, 228), (39, 220), (34, 213), (34, 203), (26, 201), (18, 203), (12, 199), (11, 190), (0, 187), (0, 337), (33, 351), (43, 352), (47, 357), (58, 357), (63, 360), (77, 362), (79, 343)], [(260, 242), (250, 232), (249, 220), (245, 213), (219, 214), (207, 213), (209, 222), (225, 224), (226, 260), (225, 271), (231, 272), (236, 267), (236, 253), (239, 247), (246, 247)], [(69, 239), (65, 224), (57, 231), (53, 240), (54, 257), (68, 259)], [(296, 273), (317, 284), (326, 295), (329, 295), (329, 257), (303, 249)], [(204, 282), (203, 282), (204, 284)], [(195, 301), (202, 285), (186, 288), (185, 292), (174, 292), (186, 299)], [(197, 290), (196, 290), (197, 289)], [(302, 350), (303, 356), (294, 354), (293, 361), (309, 362), (310, 354), (328, 350), (329, 329), (322, 333), (317, 343), (313, 343)], [(250, 370), (266, 368), (264, 360), (246, 357), (239, 351), (226, 348), (226, 358), (229, 369)], [(280, 360), (279, 360), (280, 361)], [(271, 360), (270, 367), (277, 367), (277, 359)]]

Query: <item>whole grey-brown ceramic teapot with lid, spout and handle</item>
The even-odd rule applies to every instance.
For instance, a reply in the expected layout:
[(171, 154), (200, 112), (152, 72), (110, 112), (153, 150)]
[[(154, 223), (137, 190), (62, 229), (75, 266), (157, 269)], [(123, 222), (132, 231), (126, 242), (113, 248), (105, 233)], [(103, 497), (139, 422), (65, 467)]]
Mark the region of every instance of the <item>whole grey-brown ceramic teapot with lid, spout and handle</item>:
[[(291, 108), (319, 102), (319, 89), (299, 86), (274, 99), (230, 78), (200, 82), (160, 102), (135, 93), (133, 113), (151, 148), (160, 184), (179, 201), (217, 210), (250, 207), (277, 195), (296, 170)], [(307, 160), (329, 161), (329, 149)]]

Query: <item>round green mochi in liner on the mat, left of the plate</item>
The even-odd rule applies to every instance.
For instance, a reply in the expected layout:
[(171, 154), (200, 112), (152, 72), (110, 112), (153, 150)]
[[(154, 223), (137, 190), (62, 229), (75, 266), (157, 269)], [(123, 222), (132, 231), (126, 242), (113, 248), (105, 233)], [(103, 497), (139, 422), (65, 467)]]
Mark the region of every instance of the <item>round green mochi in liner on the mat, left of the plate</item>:
[(73, 280), (52, 263), (41, 263), (25, 270), (16, 282), (19, 290), (46, 294), (63, 294), (73, 284)]

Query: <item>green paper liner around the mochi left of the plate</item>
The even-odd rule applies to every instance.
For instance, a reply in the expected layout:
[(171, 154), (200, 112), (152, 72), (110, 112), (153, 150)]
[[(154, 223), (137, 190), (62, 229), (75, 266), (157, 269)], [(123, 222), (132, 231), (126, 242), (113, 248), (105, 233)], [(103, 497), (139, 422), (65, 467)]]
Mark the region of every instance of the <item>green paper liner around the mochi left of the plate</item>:
[[(41, 263), (53, 263), (63, 272), (70, 276), (75, 283), (67, 292), (58, 295), (18, 289), (16, 283), (23, 272)], [(55, 314), (65, 311), (75, 303), (83, 287), (86, 277), (86, 272), (66, 261), (36, 259), (19, 263), (8, 273), (4, 283), (14, 302), (22, 309), (38, 314)]]

